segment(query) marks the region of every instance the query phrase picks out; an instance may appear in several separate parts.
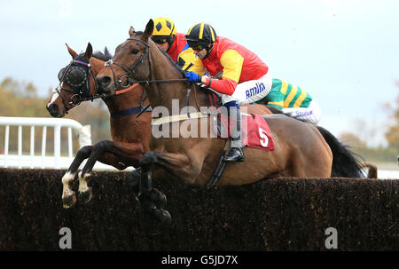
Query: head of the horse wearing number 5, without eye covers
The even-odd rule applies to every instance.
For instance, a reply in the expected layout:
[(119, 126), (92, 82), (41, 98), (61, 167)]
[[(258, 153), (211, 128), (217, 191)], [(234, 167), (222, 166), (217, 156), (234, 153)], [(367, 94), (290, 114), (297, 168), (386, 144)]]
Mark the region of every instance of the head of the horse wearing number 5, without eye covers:
[(98, 92), (113, 95), (121, 88), (129, 87), (135, 81), (148, 80), (150, 77), (150, 36), (153, 35), (153, 20), (145, 27), (145, 32), (129, 29), (129, 38), (120, 44), (113, 59), (106, 62), (96, 78)]

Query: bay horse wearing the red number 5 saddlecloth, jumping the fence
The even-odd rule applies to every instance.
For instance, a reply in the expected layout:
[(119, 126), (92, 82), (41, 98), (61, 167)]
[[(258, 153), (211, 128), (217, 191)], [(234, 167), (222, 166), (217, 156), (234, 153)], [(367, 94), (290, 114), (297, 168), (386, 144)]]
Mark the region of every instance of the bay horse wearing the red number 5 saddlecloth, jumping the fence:
[[(149, 20), (144, 33), (129, 29), (130, 37), (116, 48), (113, 59), (97, 75), (98, 92), (112, 95), (118, 90), (116, 82), (129, 77), (130, 83), (145, 84), (151, 107), (163, 107), (169, 118), (179, 118), (180, 111), (188, 109), (184, 108), (187, 104), (194, 108), (191, 115), (203, 115), (200, 107), (207, 107), (207, 95), (195, 83), (186, 82), (184, 72), (150, 39), (152, 34), (153, 20)], [(174, 103), (180, 105), (175, 112)], [(265, 115), (259, 105), (248, 105), (246, 109), (249, 114), (262, 115), (269, 124), (275, 150), (245, 147), (246, 161), (228, 163), (218, 186), (240, 186), (263, 178), (360, 177), (356, 158), (324, 128), (286, 115)], [(206, 120), (209, 123), (210, 117)], [(176, 178), (189, 186), (206, 186), (225, 146), (223, 139), (211, 138), (210, 130), (207, 137), (187, 138), (188, 129), (184, 131), (182, 126), (188, 123), (191, 128), (201, 129), (198, 118), (187, 115), (184, 121), (177, 121), (177, 137), (173, 137), (173, 130), (160, 138), (152, 132), (151, 151), (140, 160), (141, 170), (131, 172), (131, 184), (140, 187), (142, 206), (160, 221), (171, 219), (167, 210), (148, 197), (153, 189), (152, 178)]]

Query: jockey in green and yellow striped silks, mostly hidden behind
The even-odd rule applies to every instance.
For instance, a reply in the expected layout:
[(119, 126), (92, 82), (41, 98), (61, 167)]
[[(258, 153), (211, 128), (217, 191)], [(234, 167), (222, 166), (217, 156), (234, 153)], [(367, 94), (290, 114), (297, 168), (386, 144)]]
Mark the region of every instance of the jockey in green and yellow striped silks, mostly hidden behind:
[(320, 122), (320, 107), (309, 93), (280, 79), (273, 78), (269, 94), (254, 104), (276, 107), (306, 123), (317, 124)]

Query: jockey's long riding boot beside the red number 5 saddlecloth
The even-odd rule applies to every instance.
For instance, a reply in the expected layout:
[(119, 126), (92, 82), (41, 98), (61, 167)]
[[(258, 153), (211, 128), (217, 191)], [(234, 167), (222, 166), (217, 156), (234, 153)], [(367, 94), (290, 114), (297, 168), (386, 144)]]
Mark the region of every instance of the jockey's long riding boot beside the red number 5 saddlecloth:
[[(241, 126), (241, 112), (239, 105), (236, 103), (235, 107), (230, 107), (230, 115), (236, 120), (236, 126), (231, 126), (231, 150), (224, 157), (224, 162), (244, 162), (245, 157), (242, 151), (242, 126)], [(231, 124), (234, 125), (234, 124)]]

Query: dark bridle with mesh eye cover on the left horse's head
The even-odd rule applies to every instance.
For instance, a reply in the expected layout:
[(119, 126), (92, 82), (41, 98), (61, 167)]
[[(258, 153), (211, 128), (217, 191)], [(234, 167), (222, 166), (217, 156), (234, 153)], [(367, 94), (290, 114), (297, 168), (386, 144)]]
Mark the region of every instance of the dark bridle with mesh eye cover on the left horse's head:
[[(78, 79), (78, 81), (72, 81), (70, 77), (72, 72), (74, 72), (75, 75), (80, 75), (81, 77), (79, 78), (81, 79)], [(59, 97), (62, 99), (64, 106), (66, 104), (66, 99), (61, 94), (61, 91), (71, 91), (73, 93), (71, 98), (67, 101), (67, 104), (72, 107), (79, 106), (83, 101), (92, 101), (94, 99), (106, 97), (105, 94), (97, 93), (96, 83), (94, 83), (95, 94), (90, 95), (90, 75), (93, 77), (94, 80), (96, 79), (96, 76), (94, 75), (93, 69), (91, 67), (91, 59), (89, 63), (73, 59), (68, 66), (59, 70), (59, 85), (55, 88), (55, 91), (57, 91), (57, 93), (59, 94)], [(64, 88), (64, 83), (67, 83), (71, 87), (71, 89)]]

